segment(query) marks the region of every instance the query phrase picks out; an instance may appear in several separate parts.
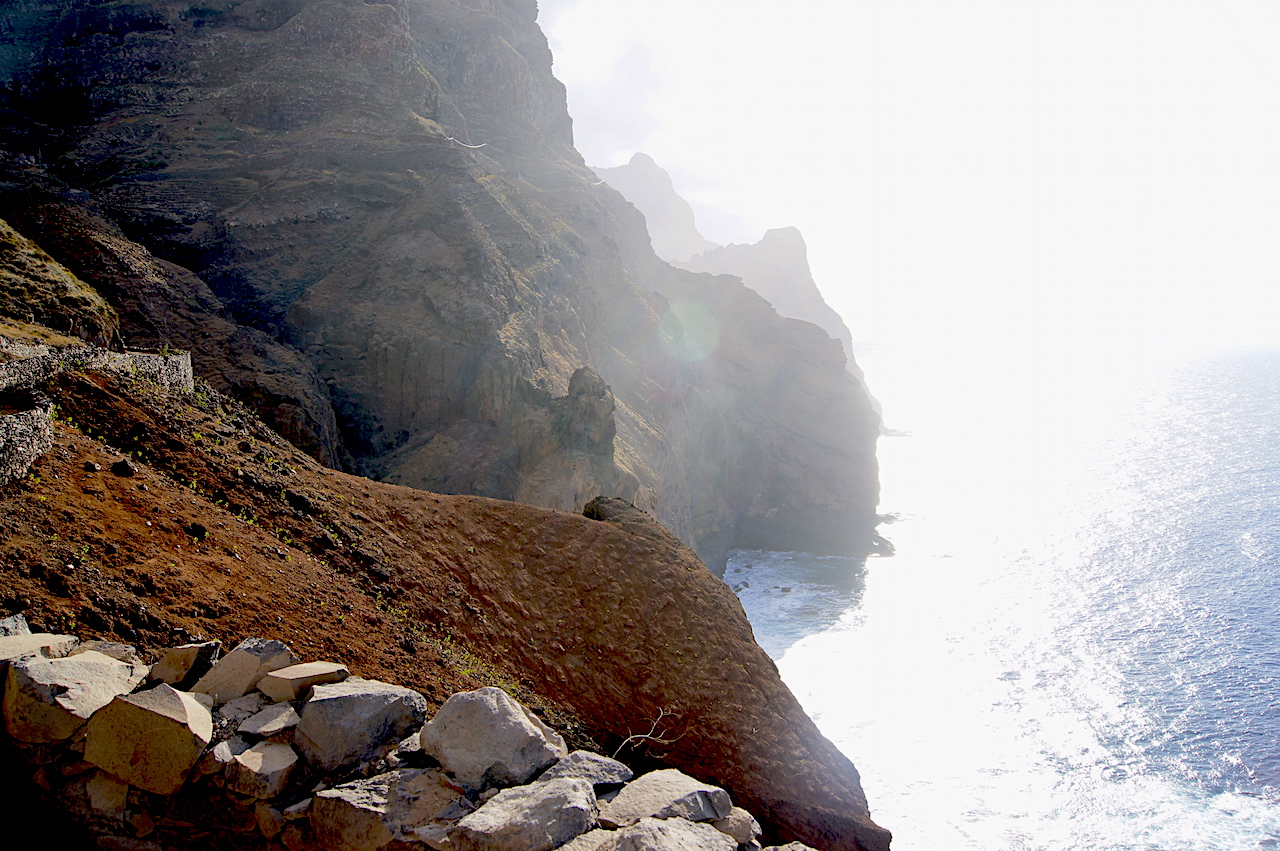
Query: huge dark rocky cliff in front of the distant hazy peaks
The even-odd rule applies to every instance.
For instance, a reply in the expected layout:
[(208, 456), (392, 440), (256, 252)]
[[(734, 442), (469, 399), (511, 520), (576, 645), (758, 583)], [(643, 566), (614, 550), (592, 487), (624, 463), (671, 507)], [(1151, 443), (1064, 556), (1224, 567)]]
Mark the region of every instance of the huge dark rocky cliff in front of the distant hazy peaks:
[[(655, 257), (534, 0), (9, 0), (3, 218), (329, 465), (867, 552), (840, 343)], [(19, 317), (22, 319), (22, 317)]]

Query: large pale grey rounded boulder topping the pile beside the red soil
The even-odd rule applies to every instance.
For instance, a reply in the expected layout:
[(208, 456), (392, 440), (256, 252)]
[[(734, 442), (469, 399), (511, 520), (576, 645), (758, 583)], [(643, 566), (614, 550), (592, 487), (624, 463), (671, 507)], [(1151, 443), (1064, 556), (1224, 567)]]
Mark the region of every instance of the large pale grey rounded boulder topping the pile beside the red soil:
[(453, 695), (422, 727), (422, 750), (462, 786), (516, 786), (568, 754), (559, 733), (502, 688)]

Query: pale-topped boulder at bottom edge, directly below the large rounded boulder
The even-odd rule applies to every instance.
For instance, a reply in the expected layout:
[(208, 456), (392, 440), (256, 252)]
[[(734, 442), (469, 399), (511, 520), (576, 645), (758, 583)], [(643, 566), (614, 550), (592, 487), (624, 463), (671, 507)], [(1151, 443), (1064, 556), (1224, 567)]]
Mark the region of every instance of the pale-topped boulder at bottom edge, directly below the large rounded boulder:
[(494, 795), (449, 831), (462, 851), (550, 851), (596, 825), (590, 781), (564, 777)]

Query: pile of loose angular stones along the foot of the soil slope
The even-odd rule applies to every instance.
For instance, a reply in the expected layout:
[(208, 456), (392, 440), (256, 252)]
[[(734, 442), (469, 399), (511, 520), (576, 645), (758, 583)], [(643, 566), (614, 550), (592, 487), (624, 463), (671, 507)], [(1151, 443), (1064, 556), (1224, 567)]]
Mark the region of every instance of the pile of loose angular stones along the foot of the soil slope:
[(428, 720), (419, 692), (300, 663), (280, 641), (188, 644), (148, 668), (128, 645), (32, 635), (20, 616), (0, 621), (5, 665), (13, 746), (109, 851), (180, 848), (209, 834), (201, 813), (225, 810), (243, 816), (228, 829), (261, 834), (246, 846), (288, 851), (760, 848), (724, 790), (570, 754), (500, 688)]

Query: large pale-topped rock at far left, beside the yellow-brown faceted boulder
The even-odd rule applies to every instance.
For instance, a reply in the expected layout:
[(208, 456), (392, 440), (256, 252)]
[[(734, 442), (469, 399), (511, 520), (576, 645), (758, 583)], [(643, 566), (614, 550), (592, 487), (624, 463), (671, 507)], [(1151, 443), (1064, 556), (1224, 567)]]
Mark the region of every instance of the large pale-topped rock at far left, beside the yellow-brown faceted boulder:
[(133, 691), (146, 668), (87, 651), (61, 659), (28, 656), (9, 665), (4, 690), (4, 719), (9, 735), (22, 742), (70, 738), (90, 715), (116, 695)]

